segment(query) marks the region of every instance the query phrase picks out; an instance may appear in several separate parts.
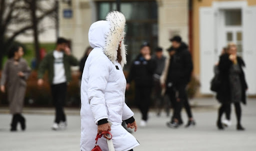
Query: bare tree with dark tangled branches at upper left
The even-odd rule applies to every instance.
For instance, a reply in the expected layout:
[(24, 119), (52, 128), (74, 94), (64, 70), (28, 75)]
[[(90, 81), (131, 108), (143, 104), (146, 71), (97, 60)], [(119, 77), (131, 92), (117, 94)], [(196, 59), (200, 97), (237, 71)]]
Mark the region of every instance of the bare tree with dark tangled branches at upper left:
[(31, 34), (31, 30), (39, 61), (38, 35), (43, 29), (38, 24), (53, 16), (56, 8), (52, 0), (0, 0), (0, 64), (14, 39), (20, 34)]

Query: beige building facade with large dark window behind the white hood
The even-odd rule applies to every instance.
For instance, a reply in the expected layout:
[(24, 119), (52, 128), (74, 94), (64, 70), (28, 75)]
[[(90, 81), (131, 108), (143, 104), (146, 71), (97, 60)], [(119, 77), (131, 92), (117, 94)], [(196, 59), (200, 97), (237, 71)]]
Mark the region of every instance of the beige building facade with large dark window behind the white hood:
[[(69, 0), (66, 0), (69, 1)], [(127, 65), (139, 53), (142, 42), (151, 49), (170, 46), (175, 34), (188, 42), (188, 0), (120, 0), (120, 10), (126, 17)], [(116, 9), (116, 0), (70, 0), (59, 2), (59, 36), (71, 40), (72, 51), (80, 58), (88, 43), (90, 25)]]

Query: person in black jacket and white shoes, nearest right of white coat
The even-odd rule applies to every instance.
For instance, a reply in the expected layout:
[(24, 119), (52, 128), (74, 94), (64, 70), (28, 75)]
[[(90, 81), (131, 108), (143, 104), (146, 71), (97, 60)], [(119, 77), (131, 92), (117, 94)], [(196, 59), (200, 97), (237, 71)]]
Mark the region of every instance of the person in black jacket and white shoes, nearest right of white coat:
[(140, 54), (132, 62), (127, 78), (126, 89), (129, 90), (130, 82), (135, 82), (135, 100), (142, 114), (140, 126), (146, 126), (147, 112), (149, 109), (151, 89), (153, 86), (153, 73), (156, 63), (150, 56), (150, 47), (148, 43), (143, 43), (140, 47)]

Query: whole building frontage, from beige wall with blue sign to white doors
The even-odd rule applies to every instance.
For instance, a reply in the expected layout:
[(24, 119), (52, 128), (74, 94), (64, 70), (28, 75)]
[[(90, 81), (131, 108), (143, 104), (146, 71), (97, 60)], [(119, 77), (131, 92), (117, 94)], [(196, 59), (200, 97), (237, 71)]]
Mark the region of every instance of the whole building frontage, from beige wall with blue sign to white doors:
[[(59, 2), (59, 36), (71, 40), (72, 51), (80, 58), (88, 44), (91, 23), (104, 19), (116, 9), (115, 0), (62, 0)], [(151, 48), (170, 46), (169, 38), (179, 34), (189, 44), (198, 77), (200, 94), (209, 90), (213, 65), (228, 42), (238, 46), (238, 55), (245, 60), (248, 94), (256, 94), (256, 0), (121, 0), (126, 17), (127, 61), (124, 70), (139, 53), (142, 42)], [(167, 52), (165, 51), (167, 56)]]

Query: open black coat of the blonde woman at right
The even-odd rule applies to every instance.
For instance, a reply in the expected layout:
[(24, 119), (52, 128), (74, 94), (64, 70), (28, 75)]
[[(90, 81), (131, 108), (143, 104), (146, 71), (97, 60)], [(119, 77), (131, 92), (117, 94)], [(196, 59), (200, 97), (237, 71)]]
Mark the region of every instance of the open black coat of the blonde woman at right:
[[(219, 57), (219, 79), (221, 82), (220, 89), (217, 92), (217, 100), (220, 103), (231, 103), (231, 94), (230, 94), (230, 80), (229, 80), (229, 69), (232, 65), (232, 62), (229, 60), (228, 54), (223, 54)], [(240, 67), (241, 73), (239, 75), (241, 81), (241, 90), (242, 90), (242, 103), (246, 104), (246, 95), (245, 91), (247, 90), (247, 83), (245, 81), (244, 72), (242, 67), (245, 66), (241, 57), (237, 57), (237, 63)]]

